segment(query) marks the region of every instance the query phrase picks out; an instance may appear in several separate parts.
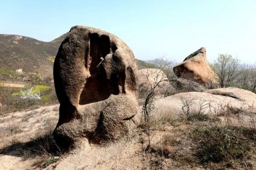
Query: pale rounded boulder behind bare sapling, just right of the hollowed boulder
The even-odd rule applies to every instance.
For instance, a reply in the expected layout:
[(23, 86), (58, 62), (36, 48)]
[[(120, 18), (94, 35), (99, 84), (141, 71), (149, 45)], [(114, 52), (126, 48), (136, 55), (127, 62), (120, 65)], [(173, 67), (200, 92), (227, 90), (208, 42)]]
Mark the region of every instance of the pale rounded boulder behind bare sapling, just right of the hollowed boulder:
[(164, 95), (165, 93), (174, 90), (164, 72), (157, 68), (145, 68), (139, 70), (138, 82), (140, 98), (146, 97), (154, 86), (156, 86), (154, 91), (157, 95)]

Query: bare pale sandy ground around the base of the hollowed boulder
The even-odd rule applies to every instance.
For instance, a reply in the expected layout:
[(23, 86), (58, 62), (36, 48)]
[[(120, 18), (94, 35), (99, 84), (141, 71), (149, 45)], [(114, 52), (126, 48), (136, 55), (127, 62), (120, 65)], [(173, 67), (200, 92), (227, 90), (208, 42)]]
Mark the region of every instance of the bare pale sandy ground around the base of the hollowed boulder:
[[(7, 113), (0, 117), (0, 148), (4, 149), (14, 142), (28, 142), (44, 132), (53, 130), (58, 120), (59, 105), (45, 106), (33, 111)], [(17, 129), (15, 129), (17, 128)], [(172, 127), (164, 127), (152, 139), (152, 144), (161, 140), (162, 133), (170, 133)], [(14, 131), (15, 132), (11, 132)], [(108, 146), (89, 144), (86, 139), (81, 147), (65, 154), (47, 170), (141, 170), (150, 167), (149, 158), (143, 155), (145, 144), (141, 143), (145, 134), (135, 133), (130, 138)], [(41, 169), (36, 167), (38, 157), (27, 158), (20, 148), (0, 155), (0, 170)]]

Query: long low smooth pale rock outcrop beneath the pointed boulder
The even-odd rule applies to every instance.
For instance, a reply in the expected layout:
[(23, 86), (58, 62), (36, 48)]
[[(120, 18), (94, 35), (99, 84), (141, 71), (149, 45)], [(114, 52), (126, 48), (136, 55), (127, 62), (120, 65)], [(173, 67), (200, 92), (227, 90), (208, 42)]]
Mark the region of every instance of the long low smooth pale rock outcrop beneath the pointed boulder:
[[(256, 94), (240, 88), (218, 88), (205, 92), (186, 92), (158, 99), (154, 105), (157, 108), (155, 117), (184, 115), (189, 106), (189, 113), (221, 114), (228, 109), (256, 113)], [(183, 108), (183, 109), (182, 109)]]

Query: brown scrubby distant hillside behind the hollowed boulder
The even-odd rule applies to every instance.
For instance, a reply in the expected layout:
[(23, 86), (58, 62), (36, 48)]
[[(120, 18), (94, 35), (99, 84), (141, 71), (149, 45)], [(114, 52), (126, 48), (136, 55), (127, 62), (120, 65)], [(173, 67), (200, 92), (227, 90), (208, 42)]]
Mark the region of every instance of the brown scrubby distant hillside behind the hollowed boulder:
[[(0, 68), (52, 76), (53, 60), (66, 34), (43, 42), (20, 35), (0, 34)], [(137, 60), (138, 69), (156, 68), (154, 64)]]

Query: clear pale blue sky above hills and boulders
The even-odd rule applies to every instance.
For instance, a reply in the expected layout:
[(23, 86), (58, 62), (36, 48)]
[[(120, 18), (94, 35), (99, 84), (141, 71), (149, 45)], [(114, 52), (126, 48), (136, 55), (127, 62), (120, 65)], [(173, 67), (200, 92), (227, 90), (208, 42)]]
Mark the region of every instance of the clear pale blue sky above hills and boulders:
[(256, 0), (4, 0), (0, 34), (51, 41), (84, 25), (124, 40), (138, 59), (177, 62), (205, 46), (256, 62)]

